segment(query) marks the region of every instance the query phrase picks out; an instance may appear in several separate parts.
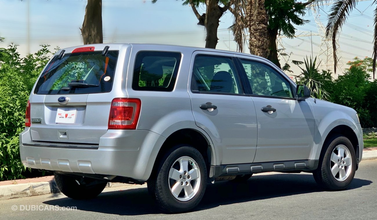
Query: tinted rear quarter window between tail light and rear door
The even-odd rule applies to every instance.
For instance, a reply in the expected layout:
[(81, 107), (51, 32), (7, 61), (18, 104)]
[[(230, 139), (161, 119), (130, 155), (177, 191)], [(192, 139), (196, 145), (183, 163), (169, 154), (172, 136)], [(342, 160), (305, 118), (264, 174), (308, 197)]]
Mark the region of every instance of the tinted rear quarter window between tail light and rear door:
[(143, 51), (136, 55), (132, 89), (173, 91), (181, 53)]

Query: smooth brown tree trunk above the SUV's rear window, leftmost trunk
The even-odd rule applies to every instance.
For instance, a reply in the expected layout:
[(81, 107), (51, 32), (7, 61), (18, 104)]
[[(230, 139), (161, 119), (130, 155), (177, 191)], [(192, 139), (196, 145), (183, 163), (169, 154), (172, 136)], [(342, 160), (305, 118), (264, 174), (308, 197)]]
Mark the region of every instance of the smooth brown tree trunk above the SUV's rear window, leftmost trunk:
[(88, 0), (83, 27), (80, 29), (84, 44), (102, 44), (102, 0)]

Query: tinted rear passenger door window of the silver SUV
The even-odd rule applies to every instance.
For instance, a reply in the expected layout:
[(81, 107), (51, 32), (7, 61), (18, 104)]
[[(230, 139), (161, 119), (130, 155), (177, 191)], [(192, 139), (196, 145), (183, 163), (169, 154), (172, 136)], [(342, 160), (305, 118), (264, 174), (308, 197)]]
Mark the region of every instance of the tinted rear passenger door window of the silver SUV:
[(196, 56), (192, 79), (193, 91), (243, 94), (231, 58)]

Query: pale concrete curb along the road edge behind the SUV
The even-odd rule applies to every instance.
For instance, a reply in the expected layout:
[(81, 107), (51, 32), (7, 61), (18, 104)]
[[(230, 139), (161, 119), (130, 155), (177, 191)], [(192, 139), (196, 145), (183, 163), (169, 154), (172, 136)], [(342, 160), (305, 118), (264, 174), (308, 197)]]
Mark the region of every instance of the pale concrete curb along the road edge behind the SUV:
[[(363, 159), (371, 160), (377, 159), (377, 147), (366, 148), (363, 150)], [(271, 173), (266, 173), (271, 174)], [(118, 182), (109, 182), (107, 183), (106, 188), (109, 187), (130, 187), (130, 184), (123, 184)], [(21, 197), (29, 196), (38, 196), (51, 193), (60, 193), (58, 186), (56, 185), (55, 180), (43, 181), (43, 182), (29, 182), (21, 184), (9, 184), (9, 185), (0, 185), (0, 200), (5, 199), (14, 199)]]

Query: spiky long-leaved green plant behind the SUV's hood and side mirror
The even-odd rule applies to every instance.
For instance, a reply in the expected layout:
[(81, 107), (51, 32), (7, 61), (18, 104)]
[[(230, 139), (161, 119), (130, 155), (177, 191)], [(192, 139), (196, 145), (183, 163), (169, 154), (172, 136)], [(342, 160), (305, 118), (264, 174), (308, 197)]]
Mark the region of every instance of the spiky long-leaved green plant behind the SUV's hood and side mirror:
[(316, 66), (316, 61), (317, 57), (314, 60), (311, 58), (309, 60), (308, 57), (304, 59), (305, 69), (300, 67), (302, 73), (296, 76), (296, 83), (306, 85), (311, 91), (312, 97), (328, 100), (329, 93), (323, 83), (331, 80), (331, 74), (327, 71), (321, 73)]

